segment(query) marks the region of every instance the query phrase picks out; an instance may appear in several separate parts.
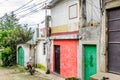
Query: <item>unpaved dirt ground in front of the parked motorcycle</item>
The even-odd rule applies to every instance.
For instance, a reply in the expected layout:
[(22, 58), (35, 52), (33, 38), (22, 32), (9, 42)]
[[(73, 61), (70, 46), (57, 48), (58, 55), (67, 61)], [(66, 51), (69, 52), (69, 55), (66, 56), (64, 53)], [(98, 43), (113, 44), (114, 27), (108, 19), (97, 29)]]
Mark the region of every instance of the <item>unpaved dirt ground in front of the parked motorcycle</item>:
[(29, 72), (20, 72), (16, 69), (0, 67), (0, 80), (51, 80), (44, 74), (35, 72), (30, 75)]

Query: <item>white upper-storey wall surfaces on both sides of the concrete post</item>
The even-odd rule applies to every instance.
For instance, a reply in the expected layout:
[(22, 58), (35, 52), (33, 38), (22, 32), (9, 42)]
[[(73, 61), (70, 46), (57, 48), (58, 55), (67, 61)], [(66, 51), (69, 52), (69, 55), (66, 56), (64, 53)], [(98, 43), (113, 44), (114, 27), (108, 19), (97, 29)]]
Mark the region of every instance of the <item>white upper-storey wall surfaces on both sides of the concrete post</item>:
[[(69, 6), (78, 4), (78, 17), (69, 19)], [(100, 22), (100, 1), (99, 0), (86, 0), (86, 18), (87, 22)], [(72, 24), (79, 22), (79, 0), (63, 0), (51, 9), (51, 26), (58, 26), (64, 24)]]

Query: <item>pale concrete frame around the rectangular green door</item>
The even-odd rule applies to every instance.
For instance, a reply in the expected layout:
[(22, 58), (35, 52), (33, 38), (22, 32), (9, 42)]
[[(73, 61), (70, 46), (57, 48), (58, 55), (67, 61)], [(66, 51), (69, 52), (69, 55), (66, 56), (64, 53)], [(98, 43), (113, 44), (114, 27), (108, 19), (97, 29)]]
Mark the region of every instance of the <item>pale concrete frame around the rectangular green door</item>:
[[(96, 45), (96, 64), (97, 64), (97, 72), (100, 71), (100, 54), (99, 54), (99, 43), (100, 41), (81, 41), (79, 40), (79, 47), (78, 47), (78, 77), (84, 80), (84, 45)], [(82, 54), (81, 54), (82, 53)]]

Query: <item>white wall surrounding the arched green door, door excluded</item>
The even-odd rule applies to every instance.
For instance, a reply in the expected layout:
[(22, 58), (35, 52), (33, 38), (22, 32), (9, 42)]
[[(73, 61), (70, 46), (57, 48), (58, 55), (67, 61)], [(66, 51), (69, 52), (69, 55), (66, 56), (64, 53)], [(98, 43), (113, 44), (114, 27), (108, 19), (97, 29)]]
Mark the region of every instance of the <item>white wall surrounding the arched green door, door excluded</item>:
[[(19, 44), (17, 45), (17, 59), (18, 59), (18, 48), (22, 47), (24, 50), (24, 66), (26, 66), (27, 62), (29, 61), (30, 58), (30, 46), (27, 44)], [(17, 60), (18, 63), (18, 60)]]

